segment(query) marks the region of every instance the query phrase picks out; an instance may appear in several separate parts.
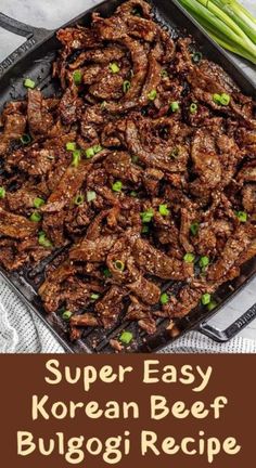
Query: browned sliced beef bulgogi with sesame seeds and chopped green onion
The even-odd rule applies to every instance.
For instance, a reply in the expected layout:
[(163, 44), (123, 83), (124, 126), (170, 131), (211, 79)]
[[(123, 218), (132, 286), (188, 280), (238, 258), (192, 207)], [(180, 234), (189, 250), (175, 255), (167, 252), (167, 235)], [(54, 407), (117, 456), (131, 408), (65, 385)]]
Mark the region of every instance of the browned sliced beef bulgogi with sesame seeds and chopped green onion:
[(0, 118), (0, 263), (65, 252), (38, 291), (72, 339), (119, 320), (154, 334), (255, 255), (255, 104), (143, 0), (57, 39), (61, 95), (31, 89)]

